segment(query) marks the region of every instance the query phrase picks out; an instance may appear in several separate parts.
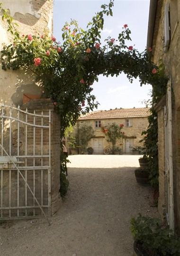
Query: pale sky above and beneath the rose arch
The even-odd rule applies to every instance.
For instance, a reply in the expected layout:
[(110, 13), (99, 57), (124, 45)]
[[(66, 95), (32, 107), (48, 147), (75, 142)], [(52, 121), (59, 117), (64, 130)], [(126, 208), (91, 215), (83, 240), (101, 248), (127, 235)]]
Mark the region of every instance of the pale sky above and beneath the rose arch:
[[(81, 28), (86, 28), (95, 12), (99, 11), (107, 0), (54, 0), (54, 36), (62, 41), (62, 27), (66, 21), (76, 19)], [(132, 42), (140, 51), (146, 47), (149, 17), (149, 0), (115, 0), (113, 17), (105, 17), (101, 33), (102, 43), (108, 36), (117, 38), (124, 24), (131, 30)], [(99, 76), (99, 82), (93, 85), (93, 94), (100, 109), (144, 107), (142, 101), (150, 98), (151, 85), (139, 85), (138, 79), (133, 84), (124, 74), (118, 77)]]

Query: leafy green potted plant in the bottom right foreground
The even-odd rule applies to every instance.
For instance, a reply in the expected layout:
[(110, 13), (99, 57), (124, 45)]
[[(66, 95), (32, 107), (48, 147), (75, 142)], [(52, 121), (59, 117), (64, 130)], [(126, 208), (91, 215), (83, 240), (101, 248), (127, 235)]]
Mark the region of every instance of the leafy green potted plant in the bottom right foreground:
[(134, 256), (180, 256), (180, 237), (160, 219), (139, 216), (131, 219)]

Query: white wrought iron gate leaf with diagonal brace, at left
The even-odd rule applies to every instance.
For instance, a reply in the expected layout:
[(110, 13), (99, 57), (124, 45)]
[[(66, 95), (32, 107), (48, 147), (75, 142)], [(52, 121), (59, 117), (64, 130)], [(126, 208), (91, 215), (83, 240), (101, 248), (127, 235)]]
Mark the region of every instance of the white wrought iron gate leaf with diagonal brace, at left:
[(51, 112), (0, 104), (0, 219), (50, 216)]

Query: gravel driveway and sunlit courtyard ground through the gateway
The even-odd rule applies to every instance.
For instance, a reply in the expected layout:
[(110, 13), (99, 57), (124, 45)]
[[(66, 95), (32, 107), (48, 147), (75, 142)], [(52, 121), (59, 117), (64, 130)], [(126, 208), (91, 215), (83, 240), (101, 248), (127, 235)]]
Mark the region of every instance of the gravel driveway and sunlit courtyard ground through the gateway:
[(130, 219), (157, 216), (151, 187), (135, 181), (137, 155), (69, 156), (70, 189), (44, 218), (2, 222), (0, 256), (132, 256)]

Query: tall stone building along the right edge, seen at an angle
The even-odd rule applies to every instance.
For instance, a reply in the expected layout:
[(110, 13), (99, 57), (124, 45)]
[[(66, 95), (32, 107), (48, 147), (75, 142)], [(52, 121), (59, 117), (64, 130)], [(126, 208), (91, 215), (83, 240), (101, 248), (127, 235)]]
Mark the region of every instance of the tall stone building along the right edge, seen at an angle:
[(159, 212), (180, 231), (180, 0), (151, 0), (147, 47), (163, 62), (167, 95), (157, 104)]

